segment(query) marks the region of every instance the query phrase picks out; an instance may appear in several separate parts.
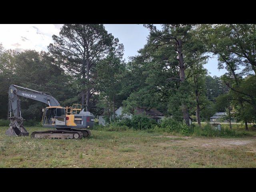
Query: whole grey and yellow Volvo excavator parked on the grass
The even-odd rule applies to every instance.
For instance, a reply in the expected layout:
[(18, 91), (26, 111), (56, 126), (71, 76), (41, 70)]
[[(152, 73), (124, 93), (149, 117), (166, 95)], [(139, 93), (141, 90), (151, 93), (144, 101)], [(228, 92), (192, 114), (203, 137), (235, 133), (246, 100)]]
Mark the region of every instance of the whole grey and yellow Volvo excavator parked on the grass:
[[(18, 90), (21, 88), (23, 90)], [(48, 94), (46, 94), (48, 93)], [(24, 128), (24, 118), (21, 116), (20, 97), (46, 103), (48, 107), (42, 109), (42, 127), (54, 128), (54, 130), (34, 131), (32, 138), (58, 138), (58, 139), (81, 139), (90, 136), (90, 130), (94, 126), (94, 116), (84, 111), (80, 104), (72, 107), (62, 107), (49, 92), (39, 92), (29, 88), (10, 85), (8, 91), (8, 118), (10, 124), (6, 135), (28, 136)]]

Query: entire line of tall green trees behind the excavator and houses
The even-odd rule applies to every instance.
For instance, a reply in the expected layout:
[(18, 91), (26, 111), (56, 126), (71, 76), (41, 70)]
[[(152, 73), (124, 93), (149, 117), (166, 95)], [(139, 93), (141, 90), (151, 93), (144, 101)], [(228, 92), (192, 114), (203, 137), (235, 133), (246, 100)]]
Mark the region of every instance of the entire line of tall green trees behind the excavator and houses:
[[(254, 24), (164, 24), (150, 31), (144, 48), (129, 62), (124, 46), (102, 24), (65, 24), (53, 35), (48, 52), (18, 53), (0, 47), (0, 110), (7, 117), (10, 84), (50, 92), (62, 106), (81, 103), (94, 115), (124, 106), (157, 108), (189, 123), (209, 120), (230, 109), (230, 116), (256, 122), (256, 29)], [(204, 68), (218, 57), (222, 77)], [(217, 69), (216, 69), (217, 70)], [(25, 118), (41, 118), (44, 104), (22, 99)]]

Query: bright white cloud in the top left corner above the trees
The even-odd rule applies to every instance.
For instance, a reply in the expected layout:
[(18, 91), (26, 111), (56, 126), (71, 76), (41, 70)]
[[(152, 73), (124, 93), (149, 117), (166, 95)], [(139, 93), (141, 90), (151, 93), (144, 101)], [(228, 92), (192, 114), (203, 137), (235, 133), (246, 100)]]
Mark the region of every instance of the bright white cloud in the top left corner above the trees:
[(62, 24), (0, 24), (0, 43), (6, 50), (47, 51), (47, 46), (53, 42), (52, 35), (59, 35), (61, 26)]

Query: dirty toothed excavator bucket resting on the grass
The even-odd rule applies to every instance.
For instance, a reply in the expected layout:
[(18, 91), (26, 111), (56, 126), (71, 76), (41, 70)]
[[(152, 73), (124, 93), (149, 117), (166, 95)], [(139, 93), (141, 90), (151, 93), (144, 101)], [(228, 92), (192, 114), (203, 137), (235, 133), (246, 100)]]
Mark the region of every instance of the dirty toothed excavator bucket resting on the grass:
[(20, 117), (10, 117), (10, 124), (8, 130), (5, 134), (8, 136), (28, 136), (28, 131), (24, 128), (23, 118)]

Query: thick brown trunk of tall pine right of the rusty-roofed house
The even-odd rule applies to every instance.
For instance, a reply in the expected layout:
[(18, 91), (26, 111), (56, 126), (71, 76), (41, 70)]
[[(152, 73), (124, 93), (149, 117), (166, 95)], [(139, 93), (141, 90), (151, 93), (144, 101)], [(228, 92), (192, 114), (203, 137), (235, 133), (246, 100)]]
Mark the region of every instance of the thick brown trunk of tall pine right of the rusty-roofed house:
[[(184, 59), (182, 55), (182, 42), (180, 39), (178, 39), (178, 60), (179, 60), (179, 67), (180, 67), (180, 81), (185, 81), (185, 66), (184, 66)], [(189, 114), (188, 114), (188, 108), (185, 103), (181, 104), (182, 107), (182, 113), (183, 113), (183, 119), (185, 120), (186, 124), (190, 126), (189, 124)]]

